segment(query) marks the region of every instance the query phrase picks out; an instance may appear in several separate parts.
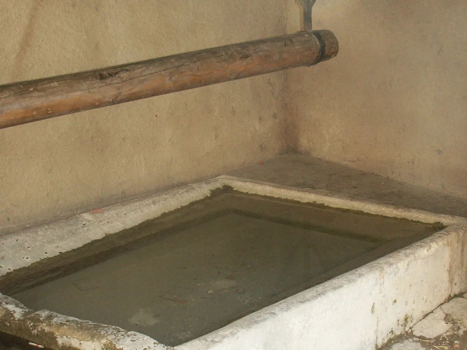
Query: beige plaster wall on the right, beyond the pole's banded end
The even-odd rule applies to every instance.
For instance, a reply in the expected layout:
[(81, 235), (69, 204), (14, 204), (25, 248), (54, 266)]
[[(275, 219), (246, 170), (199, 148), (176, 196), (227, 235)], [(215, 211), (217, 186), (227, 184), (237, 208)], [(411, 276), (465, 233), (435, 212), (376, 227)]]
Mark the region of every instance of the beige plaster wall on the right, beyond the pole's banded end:
[(288, 71), (297, 149), (467, 196), (467, 1), (318, 0), (313, 28), (340, 52)]

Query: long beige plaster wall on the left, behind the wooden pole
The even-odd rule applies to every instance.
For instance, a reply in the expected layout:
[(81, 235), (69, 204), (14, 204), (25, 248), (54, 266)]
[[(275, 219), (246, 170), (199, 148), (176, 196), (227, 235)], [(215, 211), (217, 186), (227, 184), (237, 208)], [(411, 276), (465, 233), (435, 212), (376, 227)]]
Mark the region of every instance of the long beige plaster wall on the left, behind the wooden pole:
[[(0, 0), (0, 84), (282, 35), (286, 2)], [(287, 146), (283, 72), (0, 130), (0, 232)]]

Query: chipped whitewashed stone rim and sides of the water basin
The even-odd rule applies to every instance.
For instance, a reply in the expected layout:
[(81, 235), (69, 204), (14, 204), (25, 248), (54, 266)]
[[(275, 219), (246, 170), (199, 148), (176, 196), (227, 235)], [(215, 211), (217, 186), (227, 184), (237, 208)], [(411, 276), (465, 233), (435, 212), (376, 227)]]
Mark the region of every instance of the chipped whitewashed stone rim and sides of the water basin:
[[(375, 345), (409, 329), (451, 296), (467, 290), (465, 218), (233, 176), (219, 176), (1, 236), (0, 276), (180, 208), (224, 185), (244, 193), (425, 223), (440, 222), (449, 227), (176, 349), (375, 349)], [(55, 337), (51, 346), (61, 344), (83, 350), (170, 349), (148, 336), (118, 327), (47, 310), (34, 312), (0, 294), (0, 329), (6, 323), (24, 331), (40, 329), (48, 337)], [(35, 338), (38, 342), (44, 336), (39, 333)]]

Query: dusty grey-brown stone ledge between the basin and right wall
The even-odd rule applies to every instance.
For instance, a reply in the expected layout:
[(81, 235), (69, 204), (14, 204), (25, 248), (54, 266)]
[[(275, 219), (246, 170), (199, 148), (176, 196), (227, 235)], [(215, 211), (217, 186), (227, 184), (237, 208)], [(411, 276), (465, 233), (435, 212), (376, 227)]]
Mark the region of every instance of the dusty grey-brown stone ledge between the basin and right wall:
[(433, 213), (467, 217), (467, 198), (396, 181), (308, 155), (284, 154), (228, 175)]

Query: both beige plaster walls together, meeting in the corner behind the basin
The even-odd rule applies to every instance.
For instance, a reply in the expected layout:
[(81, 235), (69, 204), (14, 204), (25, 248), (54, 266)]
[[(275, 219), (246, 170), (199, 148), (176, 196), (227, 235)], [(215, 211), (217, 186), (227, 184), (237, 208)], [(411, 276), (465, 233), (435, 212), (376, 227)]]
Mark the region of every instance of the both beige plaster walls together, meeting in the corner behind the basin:
[[(311, 68), (0, 130), (0, 233), (290, 147), (467, 196), (467, 6), (318, 0)], [(297, 0), (0, 0), (0, 84), (296, 32)]]

